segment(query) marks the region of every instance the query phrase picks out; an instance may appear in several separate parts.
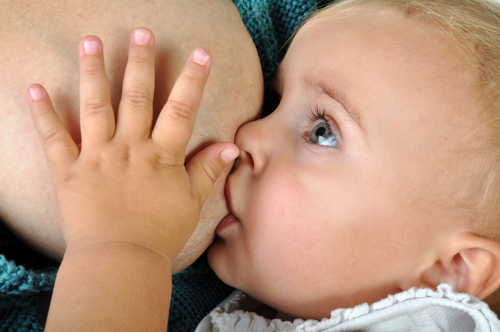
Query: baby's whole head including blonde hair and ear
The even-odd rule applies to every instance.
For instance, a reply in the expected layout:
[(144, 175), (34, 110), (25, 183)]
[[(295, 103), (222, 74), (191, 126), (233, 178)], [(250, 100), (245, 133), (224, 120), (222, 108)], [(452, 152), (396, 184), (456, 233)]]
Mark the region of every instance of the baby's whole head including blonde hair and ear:
[(312, 16), (276, 72), (279, 106), (236, 133), (217, 275), (318, 320), (412, 286), (494, 292), (499, 33), (493, 1)]

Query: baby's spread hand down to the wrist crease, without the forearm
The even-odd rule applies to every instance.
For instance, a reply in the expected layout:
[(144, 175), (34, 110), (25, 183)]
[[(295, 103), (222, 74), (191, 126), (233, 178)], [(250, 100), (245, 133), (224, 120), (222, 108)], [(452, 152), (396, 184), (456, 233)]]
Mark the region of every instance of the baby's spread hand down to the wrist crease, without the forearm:
[(79, 61), (81, 148), (46, 90), (39, 84), (28, 89), (67, 248), (128, 242), (171, 263), (194, 230), (213, 183), (239, 153), (232, 143), (216, 143), (184, 168), (210, 54), (191, 53), (152, 132), (152, 32), (139, 28), (130, 39), (116, 125), (99, 38), (81, 40)]

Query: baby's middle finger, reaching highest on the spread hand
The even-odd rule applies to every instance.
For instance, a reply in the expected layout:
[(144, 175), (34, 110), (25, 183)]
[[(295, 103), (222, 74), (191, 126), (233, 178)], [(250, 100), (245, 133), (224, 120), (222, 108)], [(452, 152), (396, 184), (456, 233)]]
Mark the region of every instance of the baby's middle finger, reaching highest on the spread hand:
[(151, 134), (154, 95), (154, 35), (144, 27), (130, 36), (128, 62), (123, 78), (123, 89), (116, 134), (120, 137), (148, 138)]

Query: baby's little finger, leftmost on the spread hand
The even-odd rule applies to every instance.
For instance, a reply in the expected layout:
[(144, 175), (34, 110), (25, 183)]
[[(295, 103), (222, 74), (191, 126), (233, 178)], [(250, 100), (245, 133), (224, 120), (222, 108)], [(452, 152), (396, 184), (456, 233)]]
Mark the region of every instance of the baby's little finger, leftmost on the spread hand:
[(47, 91), (40, 84), (27, 90), (29, 109), (51, 171), (73, 162), (79, 149), (52, 106)]

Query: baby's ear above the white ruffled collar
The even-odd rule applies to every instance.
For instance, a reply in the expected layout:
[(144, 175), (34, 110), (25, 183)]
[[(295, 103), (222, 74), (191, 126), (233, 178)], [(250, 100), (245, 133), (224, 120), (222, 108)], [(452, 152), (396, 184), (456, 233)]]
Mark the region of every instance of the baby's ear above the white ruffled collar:
[(439, 259), (424, 271), (421, 281), (431, 288), (449, 283), (456, 292), (479, 299), (500, 287), (500, 243), (475, 234), (460, 234), (449, 239)]

